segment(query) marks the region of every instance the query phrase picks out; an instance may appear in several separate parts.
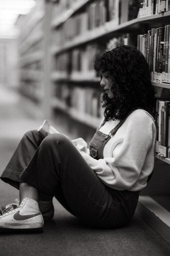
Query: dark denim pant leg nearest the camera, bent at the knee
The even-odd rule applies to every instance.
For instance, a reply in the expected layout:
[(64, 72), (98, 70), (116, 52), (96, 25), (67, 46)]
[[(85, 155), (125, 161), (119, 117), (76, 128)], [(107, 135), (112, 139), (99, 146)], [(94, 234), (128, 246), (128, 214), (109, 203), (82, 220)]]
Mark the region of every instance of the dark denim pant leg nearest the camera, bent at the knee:
[(74, 215), (100, 228), (126, 224), (138, 199), (136, 195), (129, 200), (128, 192), (124, 203), (123, 197), (116, 192), (114, 195), (112, 189), (110, 193), (75, 146), (61, 134), (48, 135), (42, 141), (20, 179), (51, 197), (57, 198), (57, 190), (62, 188), (65, 202)]

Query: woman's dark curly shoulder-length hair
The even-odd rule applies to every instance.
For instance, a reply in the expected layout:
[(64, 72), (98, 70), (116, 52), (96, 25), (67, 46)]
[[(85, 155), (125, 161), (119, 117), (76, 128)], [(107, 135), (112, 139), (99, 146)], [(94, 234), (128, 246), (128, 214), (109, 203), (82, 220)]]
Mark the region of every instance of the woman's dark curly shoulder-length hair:
[(101, 101), (106, 121), (123, 120), (136, 108), (153, 111), (156, 90), (151, 84), (147, 60), (136, 48), (122, 45), (97, 55), (94, 69), (106, 72), (112, 80), (113, 98), (103, 93)]

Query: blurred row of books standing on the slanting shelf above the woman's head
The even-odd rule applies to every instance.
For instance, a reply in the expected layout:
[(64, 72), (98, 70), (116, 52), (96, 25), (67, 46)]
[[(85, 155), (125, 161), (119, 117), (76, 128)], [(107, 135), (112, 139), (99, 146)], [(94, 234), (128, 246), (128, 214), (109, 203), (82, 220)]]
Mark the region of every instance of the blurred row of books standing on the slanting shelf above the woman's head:
[[(129, 0), (127, 2), (128, 15), (124, 20), (124, 11), (121, 0), (96, 0), (87, 5), (83, 12), (72, 15), (56, 31), (57, 45), (63, 44), (63, 41), (69, 41), (86, 31), (93, 30), (96, 27), (103, 26), (106, 22), (113, 21), (113, 26), (134, 19), (140, 7), (140, 1)], [(60, 39), (58, 37), (60, 36)], [(61, 40), (62, 37), (62, 40)], [(59, 41), (59, 44), (58, 44)]]

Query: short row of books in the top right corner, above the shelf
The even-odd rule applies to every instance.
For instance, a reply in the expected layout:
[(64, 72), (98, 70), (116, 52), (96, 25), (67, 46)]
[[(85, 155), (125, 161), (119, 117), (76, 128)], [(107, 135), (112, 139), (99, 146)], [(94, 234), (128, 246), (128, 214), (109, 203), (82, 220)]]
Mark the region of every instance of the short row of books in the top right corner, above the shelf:
[(170, 10), (170, 0), (142, 0), (138, 18), (167, 12)]

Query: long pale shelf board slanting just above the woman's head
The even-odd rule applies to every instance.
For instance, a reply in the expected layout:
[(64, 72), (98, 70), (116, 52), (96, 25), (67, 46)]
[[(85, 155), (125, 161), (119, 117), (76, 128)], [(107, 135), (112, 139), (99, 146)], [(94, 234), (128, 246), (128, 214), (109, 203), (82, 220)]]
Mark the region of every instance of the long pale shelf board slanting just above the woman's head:
[(170, 17), (170, 11), (169, 12), (165, 12), (165, 13), (160, 13), (160, 14), (154, 14), (151, 16), (147, 16), (147, 17), (142, 17), (142, 18), (136, 18), (133, 19), (131, 21), (128, 22), (124, 22), (122, 24), (119, 25), (115, 25), (115, 21), (109, 21), (106, 22), (103, 26), (95, 28), (94, 30), (88, 30), (86, 33), (84, 33), (83, 35), (79, 35), (77, 37), (74, 38), (74, 40), (71, 40), (69, 42), (67, 42), (65, 45), (63, 46), (59, 46), (59, 47), (53, 47), (52, 48), (52, 54), (60, 54), (63, 51), (69, 50), (71, 48), (74, 48), (76, 46), (79, 46), (81, 44), (85, 44), (88, 43), (90, 41), (93, 41), (95, 39), (98, 39), (100, 37), (103, 37), (105, 35), (107, 35), (108, 33), (113, 33), (113, 32), (118, 32), (118, 31), (128, 31), (129, 28), (132, 28), (133, 25), (135, 24), (140, 24), (140, 23), (148, 23), (151, 20), (158, 20), (164, 19)]

